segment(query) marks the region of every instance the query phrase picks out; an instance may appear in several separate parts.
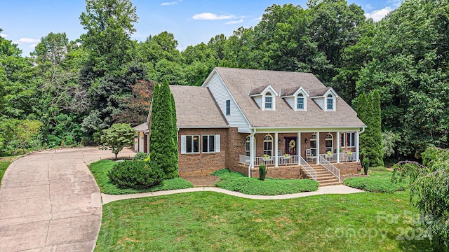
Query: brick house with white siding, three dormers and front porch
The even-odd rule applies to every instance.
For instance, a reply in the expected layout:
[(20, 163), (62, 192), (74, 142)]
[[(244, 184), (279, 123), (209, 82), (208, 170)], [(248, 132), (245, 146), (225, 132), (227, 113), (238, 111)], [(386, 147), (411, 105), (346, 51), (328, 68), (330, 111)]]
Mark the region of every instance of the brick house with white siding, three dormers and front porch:
[(312, 73), (216, 67), (201, 87), (170, 90), (180, 176), (225, 167), (254, 176), (264, 164), (272, 176), (317, 179), (316, 164), (337, 177), (360, 167), (366, 125)]

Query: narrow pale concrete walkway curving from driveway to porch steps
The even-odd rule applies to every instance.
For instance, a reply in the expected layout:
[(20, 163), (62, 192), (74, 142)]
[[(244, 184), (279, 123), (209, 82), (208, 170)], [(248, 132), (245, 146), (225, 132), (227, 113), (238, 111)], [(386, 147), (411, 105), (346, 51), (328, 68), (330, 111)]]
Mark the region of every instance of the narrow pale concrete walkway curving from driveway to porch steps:
[(114, 202), (116, 200), (128, 200), (135, 199), (140, 197), (153, 197), (153, 196), (161, 196), (161, 195), (171, 195), (175, 193), (192, 193), (192, 192), (217, 192), (217, 193), (225, 193), (227, 195), (233, 195), (236, 197), (243, 197), (246, 199), (253, 200), (285, 200), (285, 199), (293, 199), (297, 197), (305, 197), (311, 195), (323, 195), (323, 194), (348, 194), (348, 193), (361, 193), (363, 190), (358, 190), (356, 188), (350, 188), (349, 186), (337, 185), (337, 186), (323, 186), (318, 188), (315, 192), (305, 192), (305, 193), (294, 193), (289, 195), (274, 195), (274, 196), (263, 196), (263, 195), (246, 195), (239, 192), (234, 192), (230, 190), (225, 190), (221, 188), (215, 187), (201, 187), (201, 188), (187, 188), (180, 190), (166, 190), (159, 191), (154, 193), (136, 193), (131, 195), (107, 195), (102, 193), (102, 202), (103, 204), (107, 204), (109, 202)]

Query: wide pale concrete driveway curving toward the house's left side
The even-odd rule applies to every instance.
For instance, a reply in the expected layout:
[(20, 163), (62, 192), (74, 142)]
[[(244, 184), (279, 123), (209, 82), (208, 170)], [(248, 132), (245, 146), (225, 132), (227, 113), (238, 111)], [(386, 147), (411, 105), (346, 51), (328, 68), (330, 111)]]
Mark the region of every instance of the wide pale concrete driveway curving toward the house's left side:
[[(119, 157), (134, 154), (126, 149)], [(98, 148), (68, 148), (13, 162), (1, 181), (0, 251), (93, 251), (102, 203), (86, 165), (113, 157)]]

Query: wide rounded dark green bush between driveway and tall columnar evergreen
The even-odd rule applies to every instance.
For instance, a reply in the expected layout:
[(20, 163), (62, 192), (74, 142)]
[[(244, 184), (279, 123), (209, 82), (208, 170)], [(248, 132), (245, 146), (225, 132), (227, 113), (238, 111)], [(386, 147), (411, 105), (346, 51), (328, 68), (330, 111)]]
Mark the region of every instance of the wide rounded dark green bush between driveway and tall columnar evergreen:
[(117, 162), (107, 176), (119, 188), (146, 189), (163, 179), (163, 172), (152, 162), (142, 160)]

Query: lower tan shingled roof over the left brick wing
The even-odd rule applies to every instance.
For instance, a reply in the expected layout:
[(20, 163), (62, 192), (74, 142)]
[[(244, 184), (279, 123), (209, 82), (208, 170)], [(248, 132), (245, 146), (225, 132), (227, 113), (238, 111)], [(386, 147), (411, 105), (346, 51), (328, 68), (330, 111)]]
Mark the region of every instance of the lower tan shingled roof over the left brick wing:
[(208, 88), (170, 85), (175, 98), (177, 127), (228, 127)]

